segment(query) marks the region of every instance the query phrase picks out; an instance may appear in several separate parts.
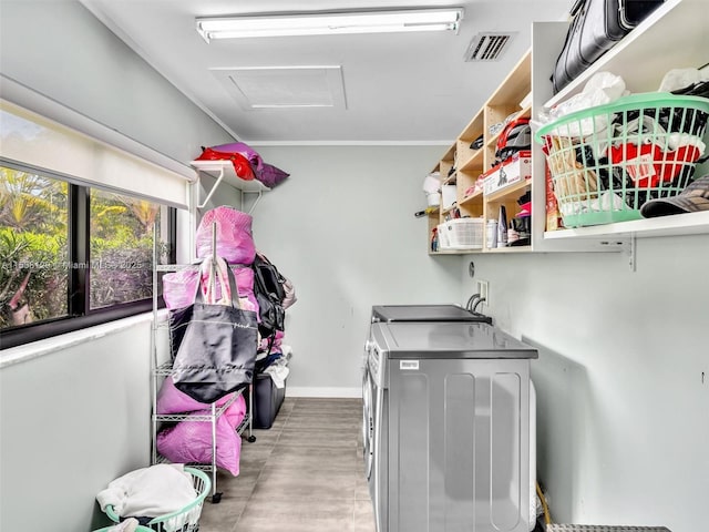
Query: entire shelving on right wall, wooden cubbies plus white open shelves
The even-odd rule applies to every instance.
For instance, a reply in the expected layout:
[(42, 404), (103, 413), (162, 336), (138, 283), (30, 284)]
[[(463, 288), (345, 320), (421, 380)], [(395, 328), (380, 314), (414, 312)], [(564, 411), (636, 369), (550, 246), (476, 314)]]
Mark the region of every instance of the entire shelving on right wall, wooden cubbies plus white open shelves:
[[(492, 194), (470, 194), (477, 176), (490, 168), (494, 161), (500, 133), (491, 134), (490, 126), (503, 122), (513, 113), (516, 117), (535, 119), (542, 109), (549, 109), (580, 92), (590, 76), (599, 71), (623, 75), (627, 89), (638, 93), (657, 91), (662, 78), (671, 69), (703, 65), (709, 50), (706, 16), (701, 14), (706, 13), (705, 8), (706, 0), (667, 0), (558, 94), (553, 94), (549, 76), (566, 39), (568, 22), (534, 22), (534, 53), (525, 54), (513, 68), (435, 166), (440, 170), (442, 181), (455, 166), (456, 206), (462, 216), (497, 219), (500, 206), (504, 205), (510, 219), (518, 213), (516, 201), (531, 191), (531, 245), (508, 248), (487, 248), (485, 245), (482, 249), (432, 252), (432, 229), (444, 219), (446, 212), (443, 211), (429, 216), (429, 254), (629, 252), (633, 255), (636, 238), (709, 234), (709, 212), (546, 231), (546, 165), (542, 146), (535, 142), (532, 143), (530, 181)], [(481, 135), (484, 140), (482, 147), (470, 147)], [(709, 165), (705, 164), (697, 170), (697, 176), (708, 171)]]

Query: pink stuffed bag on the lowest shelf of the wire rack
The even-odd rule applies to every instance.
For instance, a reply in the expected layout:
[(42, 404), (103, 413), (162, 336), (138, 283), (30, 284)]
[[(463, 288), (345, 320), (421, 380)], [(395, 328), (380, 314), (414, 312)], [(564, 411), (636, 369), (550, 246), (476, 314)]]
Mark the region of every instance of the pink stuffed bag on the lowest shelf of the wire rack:
[[(195, 413), (208, 415), (209, 410)], [(246, 415), (246, 401), (239, 396), (216, 422), (217, 467), (234, 477), (239, 474), (242, 437), (236, 433)], [(157, 434), (157, 451), (175, 463), (212, 463), (212, 422), (181, 421)]]

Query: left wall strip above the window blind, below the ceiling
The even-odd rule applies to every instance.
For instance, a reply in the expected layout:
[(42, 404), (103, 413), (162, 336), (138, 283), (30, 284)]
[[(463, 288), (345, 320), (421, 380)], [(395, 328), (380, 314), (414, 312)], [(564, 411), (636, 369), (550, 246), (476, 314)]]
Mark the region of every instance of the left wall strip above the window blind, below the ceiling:
[(79, 2), (0, 0), (0, 11), (3, 75), (184, 164), (232, 141)]

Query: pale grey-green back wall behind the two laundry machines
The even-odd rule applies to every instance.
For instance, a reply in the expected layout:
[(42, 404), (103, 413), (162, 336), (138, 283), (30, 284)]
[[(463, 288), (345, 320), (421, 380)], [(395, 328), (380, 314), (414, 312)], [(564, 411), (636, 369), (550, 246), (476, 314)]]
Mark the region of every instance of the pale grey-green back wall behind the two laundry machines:
[[(290, 173), (254, 213), (256, 246), (289, 277), (289, 395), (361, 393), (374, 304), (460, 300), (456, 257), (427, 254), (423, 178), (442, 146), (257, 146)], [(446, 259), (448, 258), (448, 259)]]

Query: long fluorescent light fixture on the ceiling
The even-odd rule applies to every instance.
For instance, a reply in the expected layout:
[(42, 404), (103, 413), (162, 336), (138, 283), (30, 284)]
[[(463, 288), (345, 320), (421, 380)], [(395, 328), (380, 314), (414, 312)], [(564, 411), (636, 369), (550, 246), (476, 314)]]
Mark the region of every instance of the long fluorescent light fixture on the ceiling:
[(340, 33), (389, 33), (443, 31), (458, 33), (462, 8), (338, 13), (299, 13), (196, 19), (197, 32), (212, 39), (254, 37), (335, 35)]

